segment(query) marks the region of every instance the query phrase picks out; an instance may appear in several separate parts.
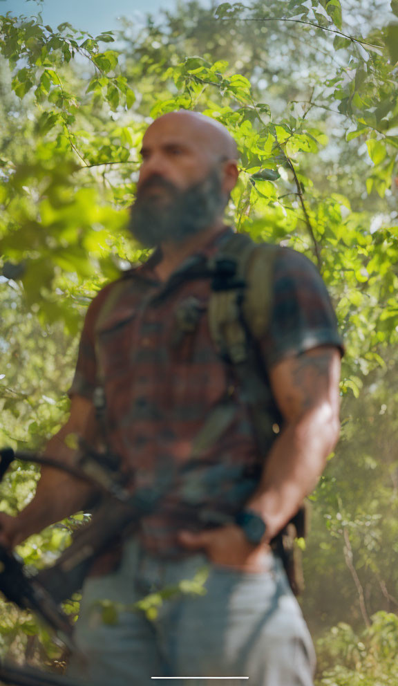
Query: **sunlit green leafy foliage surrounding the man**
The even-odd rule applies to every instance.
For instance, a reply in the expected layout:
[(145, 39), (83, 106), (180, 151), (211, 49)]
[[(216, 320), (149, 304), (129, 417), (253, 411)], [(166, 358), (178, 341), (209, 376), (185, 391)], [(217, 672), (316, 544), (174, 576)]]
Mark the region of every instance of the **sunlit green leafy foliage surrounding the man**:
[[(396, 0), (343, 12), (339, 0), (193, 1), (140, 28), (125, 21), (117, 44), (0, 17), (1, 442), (39, 448), (61, 423), (84, 308), (146, 255), (125, 224), (151, 118), (196, 109), (225, 124), (241, 155), (229, 220), (318, 263), (347, 345), (342, 440), (312, 495), (305, 553), (313, 631), (353, 627), (320, 644), (339, 649), (334, 674), (321, 658), (330, 686), (354, 678), (339, 648), (351, 639), (378, 683), (370, 633), (397, 609), (397, 30)], [(2, 508), (23, 506), (36, 479), (17, 465)], [(30, 539), (23, 557), (43, 564), (69, 527)], [(0, 618), (5, 647), (26, 646), (26, 621), (11, 635)]]

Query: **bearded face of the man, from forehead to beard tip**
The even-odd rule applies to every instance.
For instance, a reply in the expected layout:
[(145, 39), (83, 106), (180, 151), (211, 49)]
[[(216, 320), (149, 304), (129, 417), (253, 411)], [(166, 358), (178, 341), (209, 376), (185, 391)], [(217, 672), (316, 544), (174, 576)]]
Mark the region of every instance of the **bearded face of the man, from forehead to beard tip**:
[(183, 241), (222, 214), (220, 159), (174, 120), (157, 120), (142, 142), (142, 165), (129, 228), (143, 245)]

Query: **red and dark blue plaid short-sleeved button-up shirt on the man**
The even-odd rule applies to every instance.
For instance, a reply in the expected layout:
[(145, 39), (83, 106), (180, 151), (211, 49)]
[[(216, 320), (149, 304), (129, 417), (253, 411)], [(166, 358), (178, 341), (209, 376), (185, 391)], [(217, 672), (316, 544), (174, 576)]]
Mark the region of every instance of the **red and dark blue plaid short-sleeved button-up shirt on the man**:
[[(234, 370), (220, 359), (209, 332), (210, 279), (190, 277), (230, 232), (218, 234), (166, 283), (153, 272), (156, 255), (126, 272), (95, 297), (84, 322), (70, 394), (92, 398), (103, 384), (111, 448), (126, 480), (134, 474), (134, 488), (175, 475), (158, 508), (140, 524), (144, 545), (160, 555), (184, 554), (176, 541), (181, 528), (200, 530), (233, 517), (256, 489), (262, 469)], [(197, 322), (184, 332), (179, 313), (192, 302)], [(328, 293), (303, 255), (278, 251), (272, 302), (261, 346), (265, 370), (314, 346), (341, 347)], [(195, 437), (226, 397), (234, 407), (227, 429), (193, 456)]]

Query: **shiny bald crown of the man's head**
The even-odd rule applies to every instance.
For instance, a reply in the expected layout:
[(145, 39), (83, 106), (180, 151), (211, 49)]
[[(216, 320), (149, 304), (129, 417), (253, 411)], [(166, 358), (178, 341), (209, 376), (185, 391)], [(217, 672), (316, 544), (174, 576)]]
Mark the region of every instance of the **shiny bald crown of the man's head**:
[(147, 131), (149, 133), (159, 127), (178, 131), (181, 136), (196, 140), (210, 156), (223, 160), (238, 159), (238, 147), (228, 129), (204, 114), (189, 110), (169, 112), (156, 119)]

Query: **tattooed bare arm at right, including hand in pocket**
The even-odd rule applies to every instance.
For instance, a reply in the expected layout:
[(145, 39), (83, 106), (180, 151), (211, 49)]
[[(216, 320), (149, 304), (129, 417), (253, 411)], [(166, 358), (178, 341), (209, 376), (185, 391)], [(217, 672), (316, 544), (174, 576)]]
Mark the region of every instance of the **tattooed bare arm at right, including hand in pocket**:
[[(284, 426), (266, 456), (258, 490), (246, 506), (267, 523), (266, 541), (299, 510), (337, 443), (339, 376), (340, 353), (334, 346), (285, 358), (270, 371)], [(266, 564), (264, 547), (249, 544), (243, 531), (233, 524), (199, 534), (181, 532), (180, 541), (192, 550), (205, 549), (216, 564), (247, 571), (260, 571)]]

